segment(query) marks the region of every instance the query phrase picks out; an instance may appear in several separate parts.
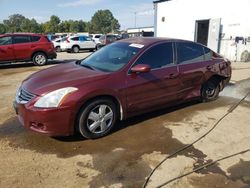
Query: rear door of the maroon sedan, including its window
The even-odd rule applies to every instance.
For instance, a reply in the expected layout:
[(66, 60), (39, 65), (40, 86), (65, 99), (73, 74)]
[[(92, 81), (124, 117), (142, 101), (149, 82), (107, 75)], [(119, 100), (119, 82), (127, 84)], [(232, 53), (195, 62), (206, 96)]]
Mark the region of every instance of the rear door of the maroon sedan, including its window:
[(199, 96), (204, 79), (204, 48), (193, 42), (176, 42), (182, 98)]

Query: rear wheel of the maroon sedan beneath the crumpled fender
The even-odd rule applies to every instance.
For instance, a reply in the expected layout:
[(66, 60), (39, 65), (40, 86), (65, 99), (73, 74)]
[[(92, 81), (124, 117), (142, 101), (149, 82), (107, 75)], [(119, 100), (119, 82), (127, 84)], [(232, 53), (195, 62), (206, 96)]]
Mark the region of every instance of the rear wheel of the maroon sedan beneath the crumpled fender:
[(201, 88), (203, 102), (214, 101), (219, 97), (220, 84), (216, 80), (208, 80)]

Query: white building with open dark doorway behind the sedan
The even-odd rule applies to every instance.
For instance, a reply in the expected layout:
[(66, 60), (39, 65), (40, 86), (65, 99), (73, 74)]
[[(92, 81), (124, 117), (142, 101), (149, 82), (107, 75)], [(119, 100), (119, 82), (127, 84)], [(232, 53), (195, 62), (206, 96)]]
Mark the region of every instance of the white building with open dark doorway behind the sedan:
[(250, 60), (250, 0), (158, 0), (154, 6), (155, 36), (199, 42), (233, 61)]

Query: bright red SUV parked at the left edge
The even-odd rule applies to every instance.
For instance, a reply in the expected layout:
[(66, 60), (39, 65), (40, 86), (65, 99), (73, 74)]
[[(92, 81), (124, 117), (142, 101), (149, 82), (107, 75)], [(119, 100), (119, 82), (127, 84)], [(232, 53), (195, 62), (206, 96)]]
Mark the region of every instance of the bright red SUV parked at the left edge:
[(56, 56), (53, 43), (44, 35), (31, 33), (0, 35), (0, 63), (33, 61), (35, 65), (40, 66)]

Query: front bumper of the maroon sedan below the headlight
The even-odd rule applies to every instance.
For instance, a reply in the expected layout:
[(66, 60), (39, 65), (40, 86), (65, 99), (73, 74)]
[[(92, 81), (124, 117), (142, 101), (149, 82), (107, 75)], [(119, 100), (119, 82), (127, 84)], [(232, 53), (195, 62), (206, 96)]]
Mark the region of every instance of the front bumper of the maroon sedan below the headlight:
[(13, 106), (20, 123), (29, 130), (49, 136), (74, 134), (74, 118), (69, 107), (40, 109), (16, 101)]

